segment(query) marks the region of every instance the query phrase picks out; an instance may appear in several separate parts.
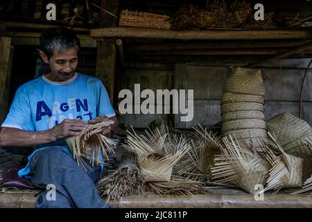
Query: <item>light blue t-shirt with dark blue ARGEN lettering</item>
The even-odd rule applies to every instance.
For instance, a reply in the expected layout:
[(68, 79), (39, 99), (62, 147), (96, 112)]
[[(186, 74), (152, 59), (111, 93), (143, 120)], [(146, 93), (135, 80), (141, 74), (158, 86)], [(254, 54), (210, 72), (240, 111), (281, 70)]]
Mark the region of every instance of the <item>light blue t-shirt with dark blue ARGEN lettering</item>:
[[(43, 131), (53, 128), (64, 119), (89, 121), (98, 116), (114, 117), (116, 113), (107, 91), (98, 78), (76, 73), (63, 82), (53, 82), (41, 76), (21, 85), (15, 94), (3, 127), (21, 130)], [(35, 146), (36, 151), (58, 146), (69, 153), (69, 148), (60, 139), (52, 144)], [(19, 176), (30, 173), (29, 161)]]

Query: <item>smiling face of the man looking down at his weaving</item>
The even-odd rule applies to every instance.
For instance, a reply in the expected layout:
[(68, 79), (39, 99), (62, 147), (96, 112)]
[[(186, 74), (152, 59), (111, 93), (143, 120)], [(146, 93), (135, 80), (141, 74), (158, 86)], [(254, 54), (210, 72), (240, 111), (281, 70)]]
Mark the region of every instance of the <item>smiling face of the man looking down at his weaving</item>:
[(65, 81), (73, 77), (78, 65), (77, 49), (71, 47), (66, 51), (54, 49), (53, 56), (44, 62), (49, 63), (51, 68), (51, 77), (57, 81)]

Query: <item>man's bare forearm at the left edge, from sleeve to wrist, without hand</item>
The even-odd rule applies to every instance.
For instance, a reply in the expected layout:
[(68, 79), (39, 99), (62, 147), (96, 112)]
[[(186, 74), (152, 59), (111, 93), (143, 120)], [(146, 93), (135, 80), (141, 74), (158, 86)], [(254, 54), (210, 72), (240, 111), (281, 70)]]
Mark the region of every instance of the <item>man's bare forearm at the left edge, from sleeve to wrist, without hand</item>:
[(35, 146), (55, 140), (49, 130), (35, 132), (17, 128), (0, 128), (0, 146)]

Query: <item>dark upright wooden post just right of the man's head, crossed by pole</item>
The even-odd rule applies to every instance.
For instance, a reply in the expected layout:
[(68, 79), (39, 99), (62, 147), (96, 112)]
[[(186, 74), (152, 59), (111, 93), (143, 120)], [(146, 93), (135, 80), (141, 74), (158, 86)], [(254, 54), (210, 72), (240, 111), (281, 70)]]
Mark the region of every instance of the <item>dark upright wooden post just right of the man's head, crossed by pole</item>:
[[(119, 12), (119, 0), (102, 0), (101, 8), (117, 15)], [(100, 27), (117, 26), (118, 21), (112, 15), (101, 10)], [(98, 40), (98, 52), (96, 57), (96, 77), (105, 85), (110, 101), (114, 103), (114, 85), (116, 80), (116, 40), (107, 38)]]

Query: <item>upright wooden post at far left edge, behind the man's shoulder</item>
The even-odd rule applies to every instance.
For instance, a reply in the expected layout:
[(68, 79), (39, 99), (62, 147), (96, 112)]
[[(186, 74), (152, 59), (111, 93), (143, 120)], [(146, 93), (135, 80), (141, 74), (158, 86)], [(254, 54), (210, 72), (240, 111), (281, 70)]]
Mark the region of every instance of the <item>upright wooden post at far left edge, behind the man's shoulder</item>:
[(6, 87), (10, 82), (10, 37), (0, 37), (0, 123), (6, 115), (7, 102), (6, 97), (8, 96)]

